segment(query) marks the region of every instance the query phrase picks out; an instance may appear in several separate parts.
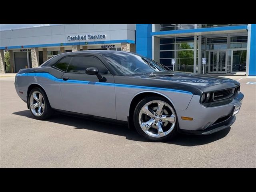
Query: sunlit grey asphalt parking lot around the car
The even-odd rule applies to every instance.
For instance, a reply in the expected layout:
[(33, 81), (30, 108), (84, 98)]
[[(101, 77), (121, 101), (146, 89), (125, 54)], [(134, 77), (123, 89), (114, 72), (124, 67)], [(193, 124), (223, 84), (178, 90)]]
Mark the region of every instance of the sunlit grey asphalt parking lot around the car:
[(145, 142), (128, 127), (54, 114), (39, 121), (0, 78), (0, 167), (256, 167), (256, 78), (239, 78), (244, 101), (236, 122), (208, 136)]

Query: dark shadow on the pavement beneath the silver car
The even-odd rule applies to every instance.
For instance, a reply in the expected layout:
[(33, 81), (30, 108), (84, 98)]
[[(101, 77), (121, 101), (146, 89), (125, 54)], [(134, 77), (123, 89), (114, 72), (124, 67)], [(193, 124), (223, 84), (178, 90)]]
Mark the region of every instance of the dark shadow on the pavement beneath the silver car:
[[(27, 118), (33, 118), (29, 110), (13, 112), (12, 114), (25, 116)], [(136, 130), (128, 129), (128, 126), (124, 126), (124, 125), (117, 125), (117, 124), (89, 120), (89, 119), (79, 118), (74, 116), (67, 116), (59, 113), (54, 113), (52, 117), (49, 118), (47, 121), (63, 124), (67, 126), (72, 126), (74, 127), (74, 129), (78, 129), (78, 130), (79, 129), (93, 130), (97, 132), (104, 132), (107, 134), (124, 136), (128, 140), (147, 142), (144, 138), (142, 138), (136, 132)], [(230, 127), (226, 128), (225, 130), (222, 130), (210, 135), (204, 135), (204, 136), (179, 134), (175, 139), (165, 143), (175, 144), (180, 146), (204, 145), (204, 144), (208, 144), (210, 142), (219, 140), (221, 138), (224, 138), (229, 131), (230, 131)]]

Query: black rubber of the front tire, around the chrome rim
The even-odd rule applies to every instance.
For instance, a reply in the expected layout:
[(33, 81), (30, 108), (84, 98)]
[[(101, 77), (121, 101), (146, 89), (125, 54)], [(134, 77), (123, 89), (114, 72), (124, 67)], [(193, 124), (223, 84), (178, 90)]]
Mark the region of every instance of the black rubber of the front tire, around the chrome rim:
[[(148, 134), (146, 134), (142, 130), (142, 128), (140, 127), (140, 123), (139, 123), (139, 113), (140, 113), (141, 108), (146, 103), (148, 103), (150, 101), (153, 101), (153, 100), (161, 100), (161, 101), (164, 101), (164, 102), (168, 103), (173, 108), (175, 116), (176, 116), (176, 124), (175, 124), (175, 127), (172, 130), (172, 132), (170, 132), (168, 135), (166, 135), (164, 137), (161, 137), (161, 138), (155, 138), (155, 137), (152, 137), (152, 136), (149, 136)], [(136, 108), (134, 110), (133, 121), (134, 121), (134, 126), (135, 126), (137, 132), (141, 136), (146, 138), (146, 140), (148, 140), (148, 141), (152, 141), (152, 142), (168, 141), (168, 140), (173, 139), (178, 134), (178, 132), (177, 132), (177, 129), (178, 129), (178, 118), (177, 118), (176, 110), (174, 109), (174, 106), (172, 105), (172, 103), (168, 99), (160, 97), (160, 96), (148, 96), (148, 97), (143, 98), (140, 102), (138, 102), (138, 104), (137, 104), (137, 106), (136, 106)]]

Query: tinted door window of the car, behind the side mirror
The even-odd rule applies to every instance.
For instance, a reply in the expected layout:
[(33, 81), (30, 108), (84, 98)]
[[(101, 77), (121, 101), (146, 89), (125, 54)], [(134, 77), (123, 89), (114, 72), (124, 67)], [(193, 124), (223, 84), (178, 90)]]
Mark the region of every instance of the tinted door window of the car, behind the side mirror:
[(67, 72), (85, 73), (86, 68), (95, 67), (100, 74), (108, 74), (108, 70), (104, 64), (94, 57), (74, 56), (70, 61)]

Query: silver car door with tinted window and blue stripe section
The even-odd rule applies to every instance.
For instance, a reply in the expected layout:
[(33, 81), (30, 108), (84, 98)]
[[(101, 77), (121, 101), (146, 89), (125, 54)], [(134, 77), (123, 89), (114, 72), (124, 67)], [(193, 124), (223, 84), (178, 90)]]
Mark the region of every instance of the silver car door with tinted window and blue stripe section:
[[(105, 77), (100, 82), (96, 75), (85, 73), (95, 67)], [(62, 108), (66, 111), (116, 119), (114, 77), (96, 56), (72, 56), (60, 80)]]

